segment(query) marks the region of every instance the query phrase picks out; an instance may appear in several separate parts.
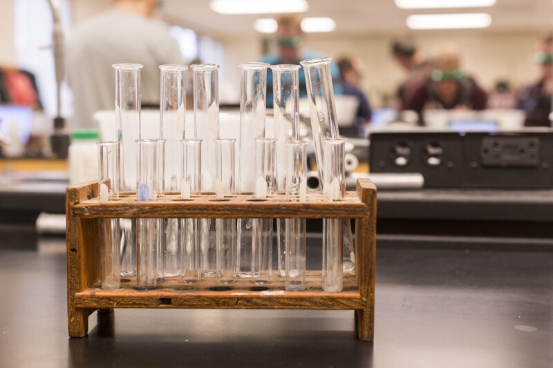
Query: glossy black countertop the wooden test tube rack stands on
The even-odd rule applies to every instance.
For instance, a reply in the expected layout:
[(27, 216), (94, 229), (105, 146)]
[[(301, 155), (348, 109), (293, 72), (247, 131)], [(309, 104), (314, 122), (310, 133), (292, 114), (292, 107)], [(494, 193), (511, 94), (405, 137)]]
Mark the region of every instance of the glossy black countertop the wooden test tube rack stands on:
[[(318, 242), (308, 266), (320, 264)], [(375, 341), (353, 311), (115, 309), (68, 338), (61, 238), (0, 241), (0, 367), (551, 367), (549, 246), (377, 249)]]

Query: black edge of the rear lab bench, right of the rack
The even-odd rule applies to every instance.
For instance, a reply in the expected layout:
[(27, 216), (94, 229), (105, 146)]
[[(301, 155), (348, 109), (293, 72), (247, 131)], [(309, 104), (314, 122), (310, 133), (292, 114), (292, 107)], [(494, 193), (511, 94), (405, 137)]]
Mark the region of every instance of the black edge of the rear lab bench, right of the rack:
[(553, 245), (553, 190), (420, 189), (378, 192), (382, 240)]

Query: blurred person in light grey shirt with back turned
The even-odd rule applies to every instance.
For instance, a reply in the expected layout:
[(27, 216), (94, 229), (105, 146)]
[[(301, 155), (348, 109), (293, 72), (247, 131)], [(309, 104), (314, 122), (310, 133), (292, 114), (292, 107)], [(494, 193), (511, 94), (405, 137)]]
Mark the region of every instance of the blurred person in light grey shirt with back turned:
[(156, 0), (113, 0), (110, 10), (77, 24), (66, 46), (68, 84), (73, 91), (70, 128), (97, 128), (93, 114), (114, 108), (112, 64), (142, 64), (142, 104), (158, 105), (162, 64), (182, 64), (175, 39), (151, 19)]

